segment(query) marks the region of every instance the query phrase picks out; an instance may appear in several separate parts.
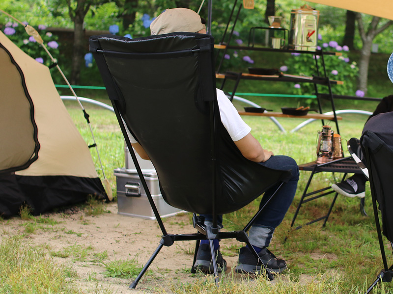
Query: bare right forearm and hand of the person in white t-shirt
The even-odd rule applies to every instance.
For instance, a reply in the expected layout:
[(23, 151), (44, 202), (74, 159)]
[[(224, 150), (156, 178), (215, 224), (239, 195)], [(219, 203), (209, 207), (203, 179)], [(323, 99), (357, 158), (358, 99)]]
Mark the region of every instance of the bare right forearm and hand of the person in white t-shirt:
[(234, 143), (242, 152), (242, 155), (251, 161), (265, 162), (274, 155), (272, 151), (263, 149), (251, 133), (248, 133), (238, 141), (234, 141)]

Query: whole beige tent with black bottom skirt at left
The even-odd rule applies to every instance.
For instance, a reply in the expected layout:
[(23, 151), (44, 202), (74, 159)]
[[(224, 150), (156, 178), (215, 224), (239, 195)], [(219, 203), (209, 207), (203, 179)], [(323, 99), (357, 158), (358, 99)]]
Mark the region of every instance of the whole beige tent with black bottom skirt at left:
[(13, 215), (23, 203), (39, 214), (89, 194), (106, 197), (48, 67), (2, 32), (0, 126), (0, 214)]

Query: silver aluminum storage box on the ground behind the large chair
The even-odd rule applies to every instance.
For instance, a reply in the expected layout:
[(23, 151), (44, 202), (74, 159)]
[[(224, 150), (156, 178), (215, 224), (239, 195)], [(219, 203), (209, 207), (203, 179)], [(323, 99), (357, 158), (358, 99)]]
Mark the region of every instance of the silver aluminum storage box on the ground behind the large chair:
[[(169, 217), (179, 212), (178, 208), (170, 206), (161, 195), (157, 173), (155, 170), (142, 170), (150, 194), (160, 216)], [(117, 168), (114, 170), (117, 186), (118, 214), (155, 220), (146, 192), (136, 170)]]

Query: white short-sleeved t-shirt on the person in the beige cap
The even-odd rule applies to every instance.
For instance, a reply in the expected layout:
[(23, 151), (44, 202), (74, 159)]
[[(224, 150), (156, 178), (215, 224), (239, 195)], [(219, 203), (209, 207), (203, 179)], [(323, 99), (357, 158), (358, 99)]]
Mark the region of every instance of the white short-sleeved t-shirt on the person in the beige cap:
[[(232, 102), (226, 97), (225, 93), (222, 90), (216, 90), (221, 122), (232, 140), (239, 141), (251, 132), (251, 127), (242, 120), (235, 106), (233, 106)], [(138, 141), (128, 132), (128, 129), (127, 133), (131, 144), (138, 143)]]

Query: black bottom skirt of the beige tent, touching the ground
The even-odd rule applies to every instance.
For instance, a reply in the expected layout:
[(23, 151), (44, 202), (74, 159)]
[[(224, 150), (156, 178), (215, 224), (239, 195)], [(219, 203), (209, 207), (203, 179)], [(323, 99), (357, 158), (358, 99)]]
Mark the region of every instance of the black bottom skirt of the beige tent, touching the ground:
[(54, 208), (83, 202), (89, 195), (107, 199), (101, 180), (75, 176), (19, 176), (0, 177), (0, 215), (17, 215), (27, 204), (32, 215)]

